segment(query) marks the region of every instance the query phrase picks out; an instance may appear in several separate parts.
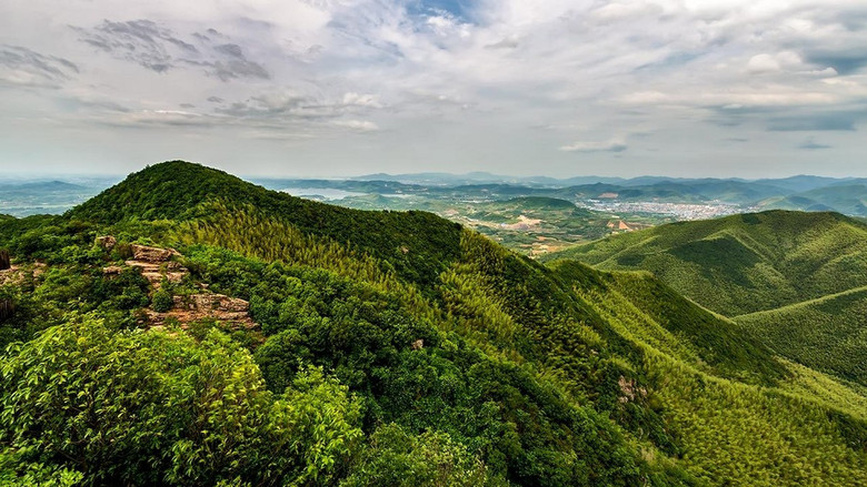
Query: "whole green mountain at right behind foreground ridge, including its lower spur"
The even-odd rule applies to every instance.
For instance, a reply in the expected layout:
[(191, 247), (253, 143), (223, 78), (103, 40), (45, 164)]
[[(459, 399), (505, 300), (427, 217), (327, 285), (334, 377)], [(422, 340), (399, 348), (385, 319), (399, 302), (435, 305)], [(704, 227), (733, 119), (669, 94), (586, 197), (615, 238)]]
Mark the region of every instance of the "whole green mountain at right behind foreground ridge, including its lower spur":
[(867, 225), (771, 211), (616, 235), (549, 258), (641, 268), (780, 355), (867, 385)]

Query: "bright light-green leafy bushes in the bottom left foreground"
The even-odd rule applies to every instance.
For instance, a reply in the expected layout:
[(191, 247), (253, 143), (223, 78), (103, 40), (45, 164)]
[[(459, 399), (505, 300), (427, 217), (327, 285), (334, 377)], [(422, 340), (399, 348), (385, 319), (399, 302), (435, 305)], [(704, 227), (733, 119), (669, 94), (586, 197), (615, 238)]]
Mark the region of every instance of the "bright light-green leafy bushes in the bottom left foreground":
[(111, 332), (83, 319), (2, 362), (2, 442), (86, 485), (257, 485), (329, 478), (360, 432), (346, 389), (313, 371), (275, 397), (226, 337)]

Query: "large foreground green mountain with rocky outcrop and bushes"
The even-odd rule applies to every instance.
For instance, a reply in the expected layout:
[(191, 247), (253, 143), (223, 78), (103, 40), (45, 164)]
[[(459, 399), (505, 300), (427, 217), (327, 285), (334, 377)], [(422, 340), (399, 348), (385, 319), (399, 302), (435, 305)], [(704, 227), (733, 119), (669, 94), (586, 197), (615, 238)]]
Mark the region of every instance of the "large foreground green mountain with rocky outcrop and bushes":
[(429, 213), (176, 161), (0, 247), (0, 484), (867, 479), (864, 389), (646, 273)]

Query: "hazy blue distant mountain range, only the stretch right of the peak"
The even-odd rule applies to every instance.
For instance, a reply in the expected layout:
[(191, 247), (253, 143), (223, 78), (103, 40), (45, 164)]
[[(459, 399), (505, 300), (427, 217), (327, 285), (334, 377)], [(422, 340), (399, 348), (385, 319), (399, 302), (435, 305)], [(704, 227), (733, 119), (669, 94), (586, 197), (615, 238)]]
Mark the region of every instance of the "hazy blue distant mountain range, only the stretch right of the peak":
[[(266, 187), (339, 189), (365, 194), (401, 193), (425, 197), (508, 200), (547, 196), (572, 202), (724, 203), (743, 210), (836, 211), (867, 216), (867, 180), (798, 175), (748, 181), (743, 179), (634, 179), (580, 176), (570, 179), (510, 177), (489, 173), (371, 174), (349, 180), (255, 180)], [(291, 191), (290, 191), (291, 192)]]

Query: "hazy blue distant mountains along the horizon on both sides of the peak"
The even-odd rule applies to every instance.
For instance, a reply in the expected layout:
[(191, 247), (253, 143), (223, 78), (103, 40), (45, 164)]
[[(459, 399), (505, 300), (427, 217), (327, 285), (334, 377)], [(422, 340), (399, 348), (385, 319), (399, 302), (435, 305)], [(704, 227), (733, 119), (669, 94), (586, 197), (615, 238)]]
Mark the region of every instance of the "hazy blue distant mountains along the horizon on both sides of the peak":
[[(545, 196), (574, 203), (602, 200), (618, 202), (666, 202), (731, 204), (745, 211), (836, 211), (867, 216), (867, 179), (835, 179), (797, 175), (784, 179), (679, 179), (640, 176), (631, 179), (577, 176), (506, 176), (486, 172), (468, 174), (418, 173), (369, 174), (326, 179), (259, 177), (252, 182), (271, 190), (298, 193), (299, 189), (340, 190), (359, 195), (416, 195), (423, 199), (504, 201)], [(2, 181), (0, 213), (19, 216), (60, 213), (116, 182), (114, 179), (81, 181)], [(313, 194), (302, 192), (300, 194)], [(342, 194), (341, 194), (342, 195)], [(46, 196), (50, 196), (46, 199)], [(326, 194), (322, 195), (327, 197)], [(383, 204), (383, 207), (388, 207)]]

